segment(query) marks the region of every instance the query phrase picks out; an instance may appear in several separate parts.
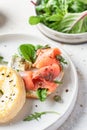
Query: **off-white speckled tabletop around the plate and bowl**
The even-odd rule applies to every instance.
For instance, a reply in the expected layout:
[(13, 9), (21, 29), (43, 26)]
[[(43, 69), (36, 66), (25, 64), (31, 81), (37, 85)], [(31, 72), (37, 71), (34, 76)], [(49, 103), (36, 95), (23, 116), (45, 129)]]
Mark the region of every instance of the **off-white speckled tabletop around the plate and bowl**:
[[(33, 33), (45, 38), (37, 27), (28, 24), (28, 18), (33, 14), (34, 7), (30, 0), (0, 0), (0, 34)], [(87, 43), (58, 44), (66, 50), (77, 69), (79, 92), (74, 110), (69, 118), (59, 129), (57, 129), (56, 123), (52, 130), (87, 130)]]

